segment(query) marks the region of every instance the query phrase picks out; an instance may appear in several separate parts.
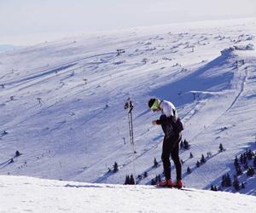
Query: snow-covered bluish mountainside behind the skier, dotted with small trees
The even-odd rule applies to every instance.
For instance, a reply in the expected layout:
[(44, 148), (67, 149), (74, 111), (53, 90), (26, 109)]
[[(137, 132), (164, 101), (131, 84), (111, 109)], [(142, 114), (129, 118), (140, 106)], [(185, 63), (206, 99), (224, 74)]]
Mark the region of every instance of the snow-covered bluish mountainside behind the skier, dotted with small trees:
[[(156, 96), (172, 101), (185, 125), (185, 185), (220, 186), (224, 174), (236, 174), (236, 155), (256, 149), (255, 32), (255, 19), (212, 21), (65, 38), (0, 54), (0, 174), (122, 184), (134, 173), (135, 157), (135, 176), (148, 173), (137, 181), (149, 184), (162, 172), (152, 168), (163, 139), (151, 125), (160, 115), (148, 110)], [(13, 158), (16, 150), (22, 155)], [(202, 154), (207, 163), (197, 168)], [(114, 162), (116, 173), (109, 171)], [(243, 172), (240, 192), (255, 195), (255, 175)]]

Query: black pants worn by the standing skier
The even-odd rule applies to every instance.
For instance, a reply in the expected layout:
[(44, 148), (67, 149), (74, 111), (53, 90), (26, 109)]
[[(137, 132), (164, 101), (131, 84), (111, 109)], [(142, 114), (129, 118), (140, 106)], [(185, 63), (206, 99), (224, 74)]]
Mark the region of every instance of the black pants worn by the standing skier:
[(176, 167), (177, 181), (182, 179), (182, 164), (178, 156), (180, 141), (181, 134), (172, 135), (169, 138), (165, 136), (164, 138), (161, 159), (164, 166), (166, 180), (171, 179), (170, 155)]

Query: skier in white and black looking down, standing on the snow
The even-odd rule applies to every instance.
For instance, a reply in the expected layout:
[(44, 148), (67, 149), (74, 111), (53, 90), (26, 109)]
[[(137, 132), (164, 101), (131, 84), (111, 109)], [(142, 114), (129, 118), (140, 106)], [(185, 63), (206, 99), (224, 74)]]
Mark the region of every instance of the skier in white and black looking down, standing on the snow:
[[(160, 181), (159, 187), (183, 187), (182, 181), (182, 164), (178, 156), (179, 142), (181, 141), (183, 124), (177, 118), (177, 110), (170, 101), (160, 101), (152, 98), (148, 101), (148, 107), (153, 112), (162, 112), (160, 119), (152, 121), (153, 125), (161, 125), (165, 133), (161, 159), (164, 167), (165, 181)], [(170, 155), (176, 167), (177, 181), (171, 179), (171, 162)]]

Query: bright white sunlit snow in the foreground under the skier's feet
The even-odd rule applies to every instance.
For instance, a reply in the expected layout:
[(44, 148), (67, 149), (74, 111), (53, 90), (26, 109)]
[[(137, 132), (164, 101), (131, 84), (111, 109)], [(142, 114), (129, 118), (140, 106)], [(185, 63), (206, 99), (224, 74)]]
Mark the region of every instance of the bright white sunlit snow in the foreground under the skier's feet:
[(255, 212), (239, 193), (0, 176), (0, 212)]

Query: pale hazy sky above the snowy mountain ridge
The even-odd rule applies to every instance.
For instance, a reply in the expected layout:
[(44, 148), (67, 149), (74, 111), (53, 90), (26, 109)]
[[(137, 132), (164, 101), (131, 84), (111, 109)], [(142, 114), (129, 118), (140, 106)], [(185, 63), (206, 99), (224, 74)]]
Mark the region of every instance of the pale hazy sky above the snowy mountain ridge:
[(1, 0), (0, 44), (193, 20), (256, 17), (255, 0)]

